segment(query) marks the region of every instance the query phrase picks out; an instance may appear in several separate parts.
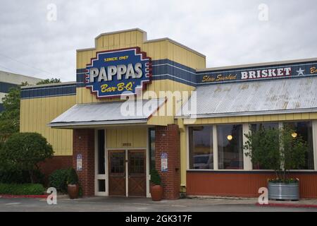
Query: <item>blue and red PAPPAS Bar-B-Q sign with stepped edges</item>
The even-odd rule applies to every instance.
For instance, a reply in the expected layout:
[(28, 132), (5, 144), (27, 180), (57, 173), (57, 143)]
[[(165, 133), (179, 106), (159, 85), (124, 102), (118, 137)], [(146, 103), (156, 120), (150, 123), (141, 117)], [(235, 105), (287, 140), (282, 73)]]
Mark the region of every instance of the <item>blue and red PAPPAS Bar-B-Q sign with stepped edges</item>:
[(139, 47), (97, 52), (86, 71), (86, 88), (97, 97), (136, 95), (151, 81), (151, 58)]

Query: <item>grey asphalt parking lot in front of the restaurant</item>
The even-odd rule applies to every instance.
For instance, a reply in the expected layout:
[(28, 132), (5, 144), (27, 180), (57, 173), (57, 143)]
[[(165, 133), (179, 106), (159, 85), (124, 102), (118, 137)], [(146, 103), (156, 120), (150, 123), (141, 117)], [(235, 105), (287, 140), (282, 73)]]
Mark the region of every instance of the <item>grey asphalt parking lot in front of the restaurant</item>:
[(256, 199), (182, 198), (151, 201), (150, 198), (58, 198), (49, 205), (40, 198), (0, 198), (0, 212), (317, 212), (317, 208), (256, 206)]

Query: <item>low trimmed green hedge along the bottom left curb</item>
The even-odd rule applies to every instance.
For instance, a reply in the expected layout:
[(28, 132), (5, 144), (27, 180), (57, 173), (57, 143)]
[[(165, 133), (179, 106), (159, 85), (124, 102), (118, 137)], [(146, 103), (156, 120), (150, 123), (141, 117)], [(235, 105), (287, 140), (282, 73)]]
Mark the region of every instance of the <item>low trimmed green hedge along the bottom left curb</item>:
[(42, 184), (0, 184), (0, 194), (42, 195), (44, 191)]

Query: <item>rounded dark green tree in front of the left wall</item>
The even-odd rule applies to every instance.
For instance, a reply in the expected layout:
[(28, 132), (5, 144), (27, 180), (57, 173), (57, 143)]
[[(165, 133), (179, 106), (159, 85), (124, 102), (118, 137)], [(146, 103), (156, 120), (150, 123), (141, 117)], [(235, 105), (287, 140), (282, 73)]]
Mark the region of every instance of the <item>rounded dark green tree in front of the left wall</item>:
[(0, 150), (2, 167), (13, 170), (26, 170), (34, 182), (35, 169), (38, 163), (53, 157), (51, 145), (39, 133), (14, 133)]

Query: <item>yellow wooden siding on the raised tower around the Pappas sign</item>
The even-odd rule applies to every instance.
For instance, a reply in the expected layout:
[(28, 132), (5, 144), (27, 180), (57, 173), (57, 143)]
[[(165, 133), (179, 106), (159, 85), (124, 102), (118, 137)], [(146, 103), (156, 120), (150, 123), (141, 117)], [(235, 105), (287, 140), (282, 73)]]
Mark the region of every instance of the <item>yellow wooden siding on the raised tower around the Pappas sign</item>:
[[(77, 51), (77, 69), (83, 69), (90, 63), (92, 57), (96, 57), (96, 52), (111, 49), (122, 49), (128, 47), (140, 47), (141, 51), (147, 52), (147, 56), (152, 60), (170, 59), (192, 69), (206, 67), (205, 57), (181, 47), (170, 40), (143, 40), (144, 33), (140, 30), (130, 30), (125, 32), (101, 35), (96, 39), (95, 49), (83, 49)], [(145, 42), (144, 42), (145, 41)], [(168, 80), (166, 80), (168, 81)], [(147, 90), (159, 93), (160, 90), (192, 90), (193, 87), (174, 81), (152, 81)], [(98, 100), (96, 95), (92, 95), (87, 88), (77, 88), (76, 102), (79, 104), (89, 102), (116, 101), (120, 98), (104, 98)]]

